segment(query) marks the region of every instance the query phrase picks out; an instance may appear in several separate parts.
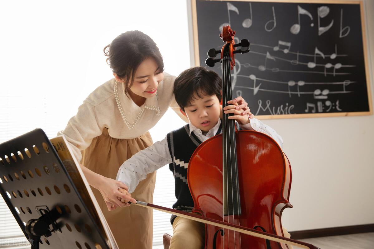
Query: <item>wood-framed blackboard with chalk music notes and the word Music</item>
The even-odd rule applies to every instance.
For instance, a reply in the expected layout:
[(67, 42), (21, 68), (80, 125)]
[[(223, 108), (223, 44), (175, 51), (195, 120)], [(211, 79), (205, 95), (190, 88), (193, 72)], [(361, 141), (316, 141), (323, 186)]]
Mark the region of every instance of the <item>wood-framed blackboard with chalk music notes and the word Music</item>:
[[(255, 115), (372, 113), (362, 1), (192, 0), (191, 7), (196, 65), (208, 68), (208, 50), (221, 49), (223, 25), (236, 31), (235, 43), (251, 43), (235, 56), (232, 83)], [(209, 69), (221, 75), (221, 63)]]

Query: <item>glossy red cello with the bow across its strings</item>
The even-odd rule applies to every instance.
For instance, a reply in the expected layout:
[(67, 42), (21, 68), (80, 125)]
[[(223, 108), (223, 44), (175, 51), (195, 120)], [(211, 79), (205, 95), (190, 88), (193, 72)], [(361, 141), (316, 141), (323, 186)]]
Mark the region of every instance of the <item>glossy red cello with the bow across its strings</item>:
[[(226, 44), (221, 51), (209, 50), (206, 60), (208, 66), (222, 63), (224, 106), (232, 99), (234, 54), (249, 52), (248, 40), (234, 44), (234, 35), (225, 26), (220, 37)], [(220, 52), (221, 59), (214, 59)], [(189, 161), (187, 181), (195, 214), (141, 201), (131, 204), (205, 223), (206, 249), (318, 249), (284, 237), (281, 215), (292, 207), (291, 166), (281, 147), (266, 134), (238, 131), (229, 115), (223, 113), (223, 133), (200, 144)]]

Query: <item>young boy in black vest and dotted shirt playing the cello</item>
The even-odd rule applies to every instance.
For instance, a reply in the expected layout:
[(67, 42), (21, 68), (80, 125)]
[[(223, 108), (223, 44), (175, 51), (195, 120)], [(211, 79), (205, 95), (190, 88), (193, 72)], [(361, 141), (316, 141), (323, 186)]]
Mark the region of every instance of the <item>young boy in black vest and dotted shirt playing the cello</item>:
[[(190, 121), (184, 127), (172, 131), (166, 137), (154, 143), (147, 149), (141, 150), (120, 166), (116, 180), (128, 186), (132, 193), (140, 180), (148, 173), (169, 164), (169, 169), (175, 178), (175, 197), (177, 202), (173, 208), (191, 212), (193, 200), (187, 185), (187, 167), (194, 150), (203, 141), (222, 133), (220, 120), (222, 80), (213, 71), (202, 67), (194, 67), (182, 72), (174, 83), (175, 100), (180, 110)], [(271, 136), (282, 147), (283, 141), (275, 130), (249, 115), (242, 116), (235, 109), (235, 105), (228, 105), (225, 113), (234, 113), (229, 118), (235, 119), (241, 130), (256, 130)], [(135, 202), (125, 190), (122, 193), (129, 196), (122, 202)], [(205, 224), (186, 218), (171, 218), (173, 236), (170, 249), (197, 249), (205, 246)]]

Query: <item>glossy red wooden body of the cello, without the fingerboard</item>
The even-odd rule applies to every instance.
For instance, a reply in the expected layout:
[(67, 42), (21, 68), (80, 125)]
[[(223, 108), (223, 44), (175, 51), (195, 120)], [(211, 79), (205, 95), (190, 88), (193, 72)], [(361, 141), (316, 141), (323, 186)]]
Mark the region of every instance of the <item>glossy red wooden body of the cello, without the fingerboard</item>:
[[(217, 149), (219, 148), (219, 149)], [(291, 166), (279, 145), (266, 134), (257, 131), (238, 131), (236, 134), (241, 215), (235, 224), (248, 228), (257, 225), (266, 232), (284, 236), (281, 224), (282, 211), (291, 207)], [(194, 200), (193, 212), (214, 220), (223, 221), (222, 135), (202, 143), (188, 164), (188, 186)], [(237, 218), (238, 216), (236, 216)], [(233, 217), (225, 217), (233, 223)], [(206, 225), (206, 248), (213, 248), (214, 235), (219, 227)], [(257, 237), (224, 231), (217, 235), (216, 248), (266, 249), (266, 241)], [(235, 239), (234, 239), (235, 237)], [(287, 248), (270, 242), (272, 249)], [(240, 246), (239, 246), (240, 245)]]

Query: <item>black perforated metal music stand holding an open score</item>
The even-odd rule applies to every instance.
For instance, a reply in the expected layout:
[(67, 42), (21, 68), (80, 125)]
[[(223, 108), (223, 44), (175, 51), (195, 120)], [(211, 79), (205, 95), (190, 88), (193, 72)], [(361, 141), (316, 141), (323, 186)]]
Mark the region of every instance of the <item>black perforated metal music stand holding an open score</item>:
[(43, 130), (0, 144), (0, 158), (1, 195), (31, 248), (110, 248)]

